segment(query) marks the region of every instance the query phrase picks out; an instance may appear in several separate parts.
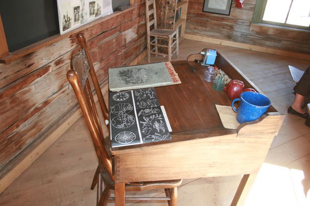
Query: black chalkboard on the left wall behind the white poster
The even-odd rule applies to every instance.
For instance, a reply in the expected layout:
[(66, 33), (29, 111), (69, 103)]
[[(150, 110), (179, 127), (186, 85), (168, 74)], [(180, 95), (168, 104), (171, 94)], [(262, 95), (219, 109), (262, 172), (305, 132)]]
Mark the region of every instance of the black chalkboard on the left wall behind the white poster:
[[(112, 0), (113, 10), (129, 0)], [(0, 14), (10, 52), (59, 34), (57, 0), (0, 0)]]

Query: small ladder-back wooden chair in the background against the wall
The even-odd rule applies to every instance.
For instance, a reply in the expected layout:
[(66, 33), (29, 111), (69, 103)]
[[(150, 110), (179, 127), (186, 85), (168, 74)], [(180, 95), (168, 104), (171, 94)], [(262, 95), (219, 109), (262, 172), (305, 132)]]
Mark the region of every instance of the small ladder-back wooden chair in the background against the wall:
[[(179, 55), (179, 32), (178, 29), (157, 29), (156, 20), (156, 4), (155, 0), (145, 1), (145, 12), (146, 12), (146, 34), (147, 34), (147, 61), (151, 60), (151, 53), (162, 56), (168, 56), (171, 61), (171, 56), (176, 53)], [(175, 38), (174, 38), (175, 36)], [(152, 40), (151, 40), (152, 38)], [(162, 41), (158, 41), (158, 40)], [(168, 45), (162, 45), (165, 41)], [(161, 44), (159, 44), (161, 43)], [(151, 46), (154, 46), (151, 50)], [(158, 48), (163, 48), (168, 53), (162, 53), (158, 51)]]

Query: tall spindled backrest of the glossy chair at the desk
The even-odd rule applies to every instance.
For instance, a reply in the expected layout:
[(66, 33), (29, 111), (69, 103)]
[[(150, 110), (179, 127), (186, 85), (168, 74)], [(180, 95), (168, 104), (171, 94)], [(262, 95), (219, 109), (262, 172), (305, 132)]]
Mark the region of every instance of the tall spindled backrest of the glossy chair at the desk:
[(106, 120), (109, 119), (108, 109), (104, 102), (94, 66), (86, 47), (84, 34), (78, 34), (77, 39), (82, 50), (72, 55), (71, 69), (67, 72), (67, 79), (74, 90), (75, 96), (83, 112), (83, 116), (87, 122), (99, 164), (105, 167), (111, 179), (114, 181), (112, 160), (104, 147), (104, 135), (95, 105), (92, 88), (94, 88), (98, 97), (103, 117)]

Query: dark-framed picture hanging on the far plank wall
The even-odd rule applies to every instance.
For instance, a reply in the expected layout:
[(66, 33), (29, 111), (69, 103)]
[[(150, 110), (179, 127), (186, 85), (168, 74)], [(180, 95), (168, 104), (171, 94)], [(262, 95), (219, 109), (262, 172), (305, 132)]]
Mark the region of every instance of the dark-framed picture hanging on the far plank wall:
[(204, 0), (202, 11), (229, 16), (232, 1), (233, 0)]

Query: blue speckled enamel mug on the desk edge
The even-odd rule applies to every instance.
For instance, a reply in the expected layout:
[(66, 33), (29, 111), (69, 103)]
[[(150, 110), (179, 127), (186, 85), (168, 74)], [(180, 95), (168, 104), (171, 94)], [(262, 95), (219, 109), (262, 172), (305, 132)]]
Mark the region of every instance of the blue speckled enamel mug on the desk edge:
[[(238, 109), (234, 106), (237, 101), (240, 101)], [(258, 119), (270, 105), (270, 100), (257, 92), (244, 92), (240, 98), (236, 98), (232, 103), (233, 110), (237, 112), (237, 121), (240, 124)]]

